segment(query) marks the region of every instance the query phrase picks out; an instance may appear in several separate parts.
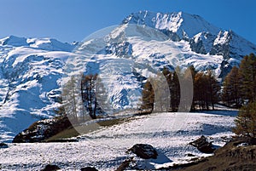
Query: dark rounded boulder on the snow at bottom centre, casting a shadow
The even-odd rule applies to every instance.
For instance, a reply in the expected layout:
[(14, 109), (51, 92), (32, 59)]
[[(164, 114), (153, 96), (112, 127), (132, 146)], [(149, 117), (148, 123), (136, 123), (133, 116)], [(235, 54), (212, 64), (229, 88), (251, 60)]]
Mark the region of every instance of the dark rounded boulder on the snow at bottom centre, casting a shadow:
[(156, 159), (158, 157), (158, 153), (152, 145), (147, 145), (147, 144), (133, 145), (131, 149), (128, 150), (128, 152), (129, 151), (132, 151), (134, 154), (137, 155), (137, 157), (141, 157), (143, 159), (149, 159), (149, 158)]

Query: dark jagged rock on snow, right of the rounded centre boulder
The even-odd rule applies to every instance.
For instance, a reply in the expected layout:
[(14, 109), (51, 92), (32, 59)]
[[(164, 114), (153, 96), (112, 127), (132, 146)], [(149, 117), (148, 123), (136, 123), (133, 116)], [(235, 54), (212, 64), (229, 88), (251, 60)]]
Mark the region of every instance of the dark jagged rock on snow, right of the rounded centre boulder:
[(212, 142), (208, 142), (204, 135), (202, 135), (201, 138), (190, 142), (189, 145), (195, 146), (199, 151), (203, 153), (212, 153), (216, 150), (213, 148)]

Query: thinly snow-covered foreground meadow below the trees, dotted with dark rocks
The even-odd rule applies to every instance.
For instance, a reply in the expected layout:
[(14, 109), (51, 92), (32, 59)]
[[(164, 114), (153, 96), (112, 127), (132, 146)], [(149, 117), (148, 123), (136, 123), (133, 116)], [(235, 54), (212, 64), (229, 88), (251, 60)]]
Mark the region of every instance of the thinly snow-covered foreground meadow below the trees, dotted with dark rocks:
[(206, 135), (213, 145), (222, 146), (221, 137), (231, 136), (237, 111), (196, 113), (153, 113), (129, 122), (101, 128), (79, 136), (78, 142), (8, 144), (0, 149), (0, 167), (3, 170), (40, 170), (52, 163), (64, 170), (79, 170), (94, 166), (99, 170), (114, 170), (129, 155), (125, 153), (132, 145), (153, 145), (157, 159), (139, 160), (143, 169), (160, 168), (173, 163), (187, 162), (194, 154), (206, 156), (189, 142)]

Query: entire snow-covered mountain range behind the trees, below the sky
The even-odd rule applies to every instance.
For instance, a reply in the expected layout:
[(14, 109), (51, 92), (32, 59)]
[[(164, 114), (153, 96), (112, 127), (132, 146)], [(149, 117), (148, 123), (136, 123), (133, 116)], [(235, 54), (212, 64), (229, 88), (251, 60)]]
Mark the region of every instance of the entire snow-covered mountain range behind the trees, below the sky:
[(67, 66), (99, 74), (108, 92), (104, 100), (111, 109), (122, 110), (137, 108), (143, 81), (164, 66), (194, 65), (224, 77), (250, 53), (256, 54), (256, 46), (234, 31), (183, 12), (131, 14), (120, 26), (97, 32), (76, 48), (51, 38), (3, 38), (0, 141), (10, 141), (34, 121), (55, 115), (61, 77), (70, 72)]

